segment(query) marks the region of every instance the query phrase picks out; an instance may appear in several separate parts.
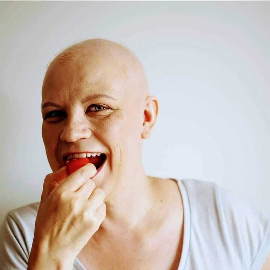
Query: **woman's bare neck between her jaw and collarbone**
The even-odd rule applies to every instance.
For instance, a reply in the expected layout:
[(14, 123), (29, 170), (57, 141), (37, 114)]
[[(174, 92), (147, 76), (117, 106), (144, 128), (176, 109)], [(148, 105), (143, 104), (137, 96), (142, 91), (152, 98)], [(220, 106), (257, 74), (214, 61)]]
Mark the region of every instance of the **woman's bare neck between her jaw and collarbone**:
[[(114, 193), (105, 200), (107, 211), (101, 230), (109, 234), (135, 231), (147, 220), (156, 202), (154, 179), (147, 176), (143, 167), (136, 170), (130, 181), (121, 181)], [(131, 180), (132, 179), (132, 180)]]

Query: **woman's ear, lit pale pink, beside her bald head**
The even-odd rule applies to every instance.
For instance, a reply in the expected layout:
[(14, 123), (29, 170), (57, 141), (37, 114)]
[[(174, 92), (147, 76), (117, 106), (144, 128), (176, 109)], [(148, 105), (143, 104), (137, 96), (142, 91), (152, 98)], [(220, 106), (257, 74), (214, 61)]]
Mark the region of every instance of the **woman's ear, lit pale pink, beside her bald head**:
[(148, 139), (158, 117), (158, 99), (155, 96), (147, 96), (144, 104), (142, 139)]

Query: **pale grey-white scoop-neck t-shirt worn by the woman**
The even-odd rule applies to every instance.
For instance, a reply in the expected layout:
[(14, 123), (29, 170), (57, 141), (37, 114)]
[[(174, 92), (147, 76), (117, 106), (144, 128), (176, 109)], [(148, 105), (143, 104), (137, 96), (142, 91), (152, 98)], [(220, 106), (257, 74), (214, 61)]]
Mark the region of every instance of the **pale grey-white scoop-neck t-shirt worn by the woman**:
[[(176, 181), (184, 206), (178, 270), (261, 270), (270, 252), (270, 211), (213, 182)], [(0, 235), (1, 270), (27, 269), (38, 206), (35, 202), (6, 214)], [(77, 258), (73, 270), (85, 270)]]

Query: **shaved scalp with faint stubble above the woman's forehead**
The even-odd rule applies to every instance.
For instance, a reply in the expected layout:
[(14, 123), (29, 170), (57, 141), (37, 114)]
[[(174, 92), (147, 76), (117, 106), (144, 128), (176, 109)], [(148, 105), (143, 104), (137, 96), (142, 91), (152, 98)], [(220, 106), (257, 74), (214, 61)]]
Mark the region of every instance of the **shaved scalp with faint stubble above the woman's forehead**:
[[(69, 46), (49, 64), (44, 81), (57, 65), (67, 65), (71, 61), (80, 62), (82, 65), (91, 63), (95, 66), (111, 64), (113, 72), (130, 85), (127, 90), (128, 88), (133, 90), (132, 95), (138, 95), (139, 99), (145, 99), (149, 95), (149, 86), (142, 64), (133, 52), (121, 44), (96, 38)], [(96, 71), (99, 72), (100, 68)]]

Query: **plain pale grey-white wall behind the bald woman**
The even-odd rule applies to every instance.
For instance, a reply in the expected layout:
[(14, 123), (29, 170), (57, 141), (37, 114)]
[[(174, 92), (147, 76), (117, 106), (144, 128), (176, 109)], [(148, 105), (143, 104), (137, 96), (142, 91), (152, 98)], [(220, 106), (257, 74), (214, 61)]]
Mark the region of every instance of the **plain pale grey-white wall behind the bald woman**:
[(148, 175), (216, 182), (270, 210), (269, 1), (1, 1), (0, 222), (40, 201), (46, 65), (105, 38), (145, 67), (158, 121)]

